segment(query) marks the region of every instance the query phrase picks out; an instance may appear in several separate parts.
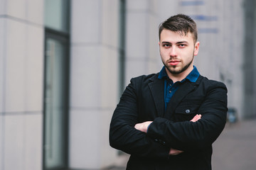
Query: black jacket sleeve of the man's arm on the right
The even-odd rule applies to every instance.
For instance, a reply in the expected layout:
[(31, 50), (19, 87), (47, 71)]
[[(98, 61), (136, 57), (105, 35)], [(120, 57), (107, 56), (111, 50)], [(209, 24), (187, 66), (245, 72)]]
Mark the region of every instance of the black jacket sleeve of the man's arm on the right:
[(227, 111), (227, 89), (215, 81), (198, 109), (198, 114), (202, 115), (200, 120), (173, 123), (166, 118), (156, 118), (147, 135), (183, 151), (210, 147), (225, 127)]

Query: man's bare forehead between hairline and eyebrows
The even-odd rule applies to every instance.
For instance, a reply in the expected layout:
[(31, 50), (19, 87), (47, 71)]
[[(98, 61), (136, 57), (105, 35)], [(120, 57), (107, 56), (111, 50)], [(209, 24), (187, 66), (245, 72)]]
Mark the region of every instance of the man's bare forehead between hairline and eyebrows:
[(193, 35), (192, 33), (188, 32), (186, 35), (182, 32), (174, 32), (171, 30), (164, 29), (160, 34), (160, 42), (180, 42), (180, 41), (187, 41), (193, 42)]

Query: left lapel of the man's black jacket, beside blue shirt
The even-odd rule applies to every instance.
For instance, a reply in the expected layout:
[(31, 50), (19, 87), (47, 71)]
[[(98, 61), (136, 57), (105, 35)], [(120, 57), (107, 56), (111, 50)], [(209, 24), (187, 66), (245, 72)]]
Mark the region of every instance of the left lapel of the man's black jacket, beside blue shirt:
[(154, 98), (154, 103), (156, 106), (157, 115), (160, 117), (164, 116), (164, 80), (158, 79), (156, 74), (151, 78), (151, 83), (149, 83), (149, 89)]

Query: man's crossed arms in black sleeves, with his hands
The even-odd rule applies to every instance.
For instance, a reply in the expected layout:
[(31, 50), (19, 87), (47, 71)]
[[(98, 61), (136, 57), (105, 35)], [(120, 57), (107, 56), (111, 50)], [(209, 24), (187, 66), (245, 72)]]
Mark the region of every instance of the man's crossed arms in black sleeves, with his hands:
[[(200, 118), (172, 122), (158, 117), (154, 118), (153, 122), (146, 123), (138, 123), (141, 116), (138, 115), (138, 111), (144, 115), (155, 113), (154, 109), (145, 110), (139, 105), (138, 101), (144, 100), (139, 95), (140, 86), (141, 84), (132, 80), (114, 111), (110, 123), (112, 147), (138, 157), (161, 159), (181, 152), (196, 152), (197, 149), (210, 147), (222, 132), (227, 111), (225, 85), (217, 84), (207, 92), (206, 98), (198, 109), (198, 115), (202, 115)], [(154, 105), (154, 103), (151, 104)], [(150, 118), (145, 119), (150, 120)]]

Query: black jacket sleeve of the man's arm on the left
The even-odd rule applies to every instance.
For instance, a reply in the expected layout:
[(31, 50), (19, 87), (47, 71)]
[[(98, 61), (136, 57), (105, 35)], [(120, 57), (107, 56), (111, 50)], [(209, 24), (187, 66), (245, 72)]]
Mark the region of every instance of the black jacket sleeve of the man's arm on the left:
[(114, 110), (110, 123), (110, 146), (138, 157), (167, 159), (168, 147), (134, 128), (138, 118), (136, 81), (138, 79), (131, 79)]

